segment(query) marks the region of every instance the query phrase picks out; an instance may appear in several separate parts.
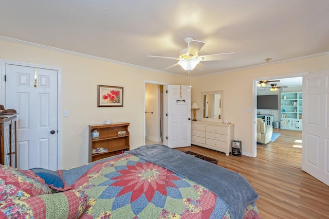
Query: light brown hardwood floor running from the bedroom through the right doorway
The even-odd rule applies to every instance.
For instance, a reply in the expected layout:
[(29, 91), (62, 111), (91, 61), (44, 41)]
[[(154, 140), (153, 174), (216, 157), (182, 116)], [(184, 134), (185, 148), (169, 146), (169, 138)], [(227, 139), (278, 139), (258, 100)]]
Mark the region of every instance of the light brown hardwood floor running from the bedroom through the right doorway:
[(262, 218), (329, 218), (329, 187), (301, 170), (301, 148), (294, 147), (301, 145), (301, 132), (274, 132), (282, 134), (258, 145), (257, 157), (226, 156), (195, 145), (177, 150), (203, 154), (239, 171), (260, 196), (256, 204)]

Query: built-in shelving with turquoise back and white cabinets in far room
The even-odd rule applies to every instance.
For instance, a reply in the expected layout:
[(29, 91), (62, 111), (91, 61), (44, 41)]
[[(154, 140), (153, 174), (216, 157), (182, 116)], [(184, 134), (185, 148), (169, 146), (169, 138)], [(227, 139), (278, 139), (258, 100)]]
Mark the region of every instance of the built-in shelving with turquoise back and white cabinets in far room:
[(302, 131), (303, 93), (281, 93), (281, 129)]

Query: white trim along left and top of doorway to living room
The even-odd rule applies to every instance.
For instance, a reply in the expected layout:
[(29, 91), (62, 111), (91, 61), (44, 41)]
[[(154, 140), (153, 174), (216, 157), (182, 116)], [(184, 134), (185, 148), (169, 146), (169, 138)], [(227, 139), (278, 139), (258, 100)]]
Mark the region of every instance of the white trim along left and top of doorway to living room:
[(309, 74), (309, 72), (302, 72), (298, 74), (291, 74), (291, 75), (278, 75), (278, 76), (271, 76), (271, 77), (262, 77), (262, 78), (253, 78), (252, 79), (252, 151), (251, 151), (251, 156), (256, 157), (257, 156), (257, 142), (256, 142), (256, 132), (257, 132), (257, 126), (256, 126), (256, 118), (257, 118), (257, 82), (261, 80), (276, 80), (280, 78), (296, 78), (296, 77), (302, 77), (304, 75)]

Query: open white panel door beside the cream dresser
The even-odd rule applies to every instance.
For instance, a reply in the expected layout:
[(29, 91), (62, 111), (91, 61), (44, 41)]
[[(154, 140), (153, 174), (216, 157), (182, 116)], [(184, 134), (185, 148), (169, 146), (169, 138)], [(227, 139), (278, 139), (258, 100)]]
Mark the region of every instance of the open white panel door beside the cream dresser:
[(191, 146), (191, 90), (187, 85), (168, 85), (168, 132), (170, 148)]

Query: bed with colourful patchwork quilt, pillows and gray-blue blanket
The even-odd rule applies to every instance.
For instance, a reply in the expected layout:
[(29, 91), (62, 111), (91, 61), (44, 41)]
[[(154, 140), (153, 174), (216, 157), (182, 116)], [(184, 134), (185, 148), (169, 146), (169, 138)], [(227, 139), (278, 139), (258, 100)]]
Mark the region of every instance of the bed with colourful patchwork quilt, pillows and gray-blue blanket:
[(0, 167), (0, 218), (261, 218), (239, 173), (165, 145), (50, 171)]

